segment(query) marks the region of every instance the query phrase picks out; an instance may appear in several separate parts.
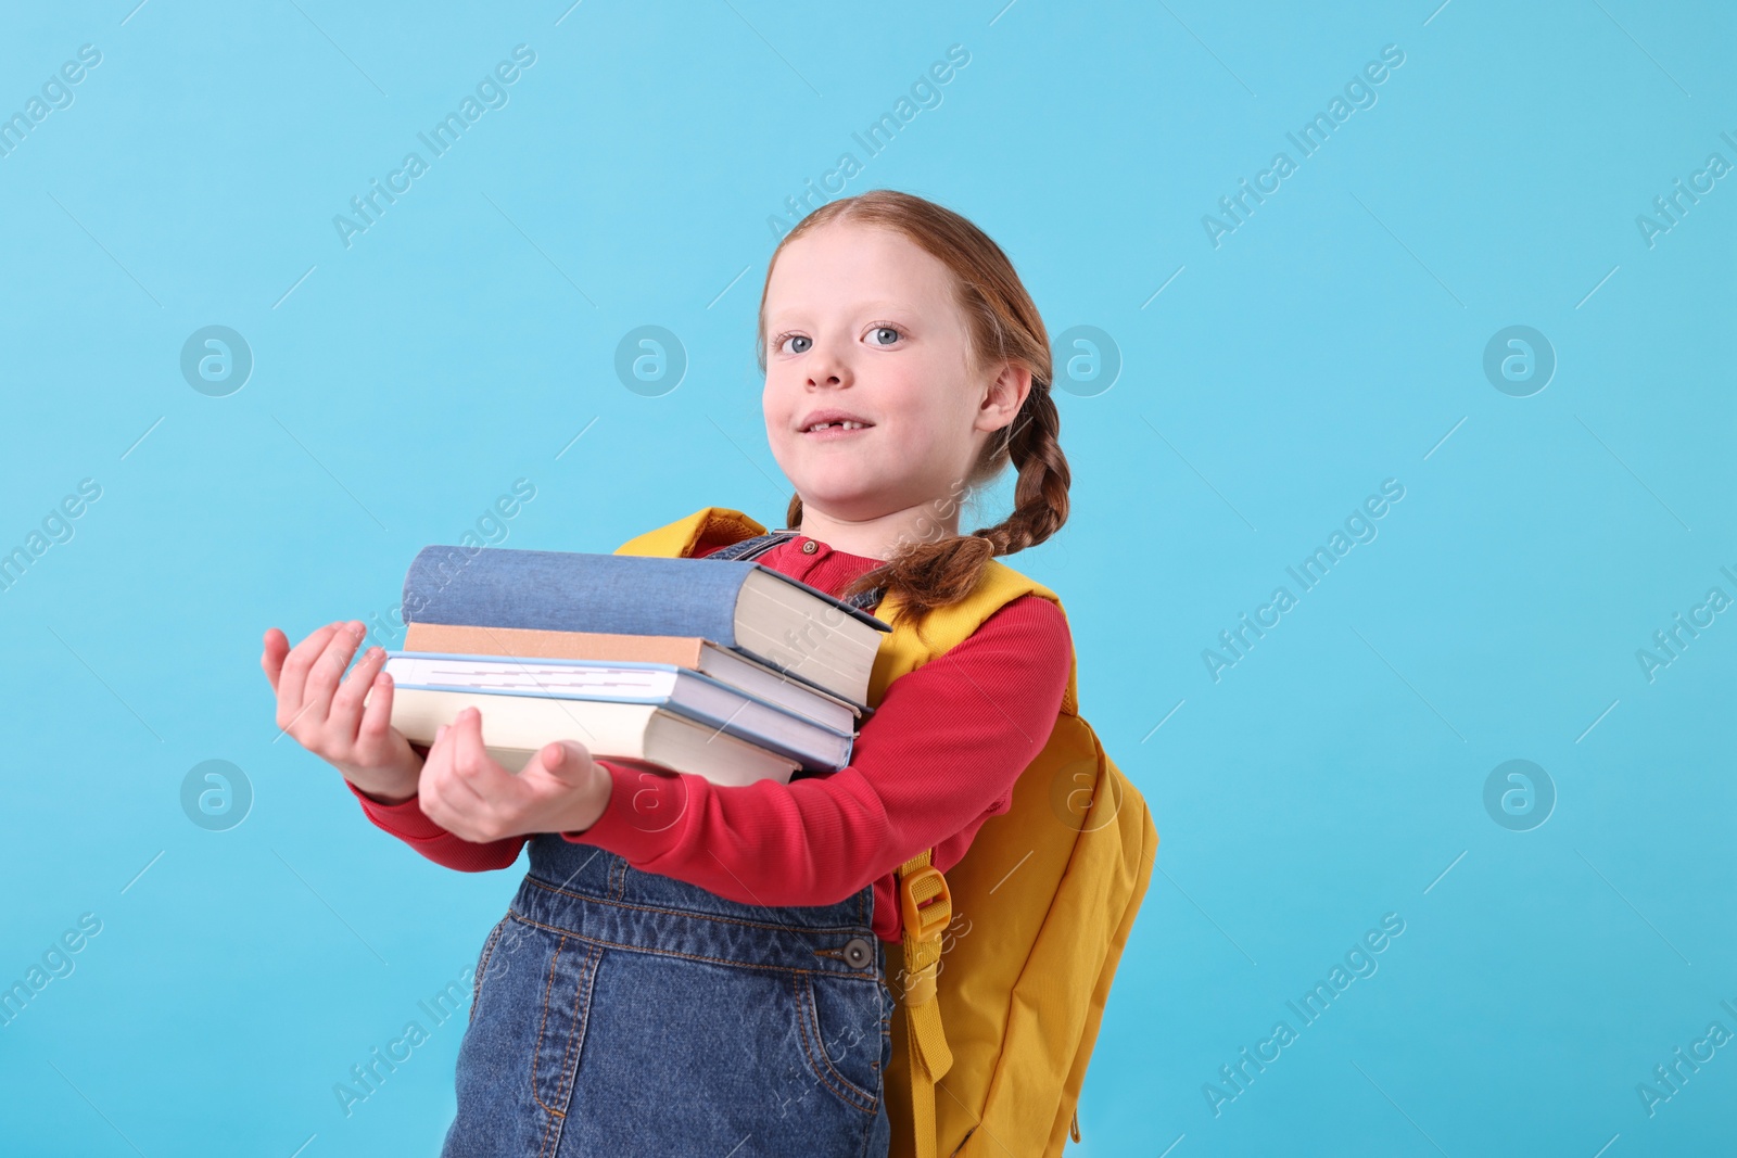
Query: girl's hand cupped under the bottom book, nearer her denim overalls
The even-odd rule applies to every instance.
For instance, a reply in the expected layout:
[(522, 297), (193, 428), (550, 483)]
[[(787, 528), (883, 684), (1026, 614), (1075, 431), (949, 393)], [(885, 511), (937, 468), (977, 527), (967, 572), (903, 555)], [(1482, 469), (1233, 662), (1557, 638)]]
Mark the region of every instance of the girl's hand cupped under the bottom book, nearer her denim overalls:
[(431, 821), (488, 844), (591, 828), (608, 807), (611, 786), (608, 769), (577, 740), (547, 743), (519, 773), (509, 773), (483, 748), (483, 714), (466, 708), (436, 734), (417, 795)]

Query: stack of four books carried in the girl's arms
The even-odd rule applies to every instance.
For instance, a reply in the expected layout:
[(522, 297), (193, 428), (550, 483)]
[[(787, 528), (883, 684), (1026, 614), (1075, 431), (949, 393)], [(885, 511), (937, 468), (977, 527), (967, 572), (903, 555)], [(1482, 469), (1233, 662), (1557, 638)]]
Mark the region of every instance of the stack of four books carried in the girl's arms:
[(519, 771), (544, 745), (723, 785), (849, 764), (891, 628), (752, 561), (424, 547), (387, 651), (393, 727), (420, 745), (467, 707)]

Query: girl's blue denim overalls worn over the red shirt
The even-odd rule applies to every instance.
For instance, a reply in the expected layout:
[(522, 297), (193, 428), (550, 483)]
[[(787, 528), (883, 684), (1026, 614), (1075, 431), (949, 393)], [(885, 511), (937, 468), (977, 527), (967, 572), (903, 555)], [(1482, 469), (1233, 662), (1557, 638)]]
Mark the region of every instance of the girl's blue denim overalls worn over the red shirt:
[(884, 1158), (895, 1005), (872, 884), (768, 908), (559, 833), (528, 847), (478, 958), (441, 1158)]

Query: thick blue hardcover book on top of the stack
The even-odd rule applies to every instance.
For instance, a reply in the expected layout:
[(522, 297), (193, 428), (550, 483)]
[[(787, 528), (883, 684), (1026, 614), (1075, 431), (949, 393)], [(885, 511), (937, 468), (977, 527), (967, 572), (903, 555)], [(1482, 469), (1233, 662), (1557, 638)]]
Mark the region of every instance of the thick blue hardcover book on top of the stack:
[(405, 623), (697, 635), (863, 703), (884, 632), (761, 563), (431, 545), (405, 575)]

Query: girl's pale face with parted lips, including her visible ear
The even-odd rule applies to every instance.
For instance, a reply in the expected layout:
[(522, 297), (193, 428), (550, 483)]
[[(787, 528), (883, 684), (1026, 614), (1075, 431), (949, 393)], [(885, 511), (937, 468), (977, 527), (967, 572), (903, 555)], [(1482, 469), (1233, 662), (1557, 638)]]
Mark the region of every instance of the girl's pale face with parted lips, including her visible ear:
[[(969, 365), (952, 274), (900, 233), (832, 222), (766, 286), (766, 439), (804, 507), (858, 523), (957, 498), (1018, 403)], [(829, 415), (862, 429), (811, 425)]]

